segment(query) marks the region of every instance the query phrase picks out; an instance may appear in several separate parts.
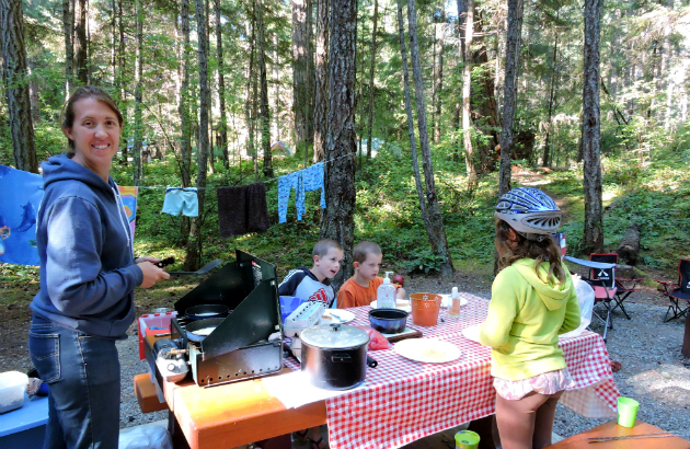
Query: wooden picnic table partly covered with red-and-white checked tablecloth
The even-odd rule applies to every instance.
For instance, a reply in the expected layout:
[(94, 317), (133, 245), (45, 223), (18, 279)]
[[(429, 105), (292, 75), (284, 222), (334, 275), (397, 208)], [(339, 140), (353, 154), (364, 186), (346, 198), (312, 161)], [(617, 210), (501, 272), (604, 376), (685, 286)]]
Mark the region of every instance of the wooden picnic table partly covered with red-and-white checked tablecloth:
[[(491, 349), (462, 336), (464, 327), (485, 320), (488, 300), (463, 297), (468, 304), (460, 320), (441, 309), (436, 326), (416, 326), (411, 318), (407, 324), (424, 337), (457, 345), (462, 355), (455, 361), (423, 364), (393, 349), (375, 352), (378, 367), (367, 371), (361, 387), (297, 407), (271, 392), (268, 378), (211, 388), (163, 382), (162, 394), (192, 449), (232, 448), (324, 423), (333, 449), (399, 448), (495, 412)], [(348, 324), (369, 324), (369, 307), (349, 310), (355, 320)], [(587, 417), (614, 416), (620, 394), (601, 336), (585, 331), (560, 346), (575, 381), (561, 403)], [(281, 373), (290, 370), (299, 370), (291, 357)], [(141, 385), (135, 380), (135, 387)]]

